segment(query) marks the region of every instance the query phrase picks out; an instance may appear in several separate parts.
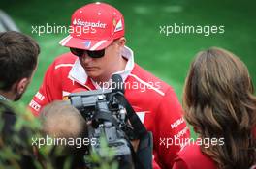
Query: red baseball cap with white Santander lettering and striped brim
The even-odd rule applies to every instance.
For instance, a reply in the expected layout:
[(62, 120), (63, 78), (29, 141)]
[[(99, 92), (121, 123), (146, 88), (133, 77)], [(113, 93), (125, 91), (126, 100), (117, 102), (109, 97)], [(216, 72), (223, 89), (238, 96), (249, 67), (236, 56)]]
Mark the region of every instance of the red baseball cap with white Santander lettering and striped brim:
[(122, 14), (106, 3), (91, 3), (78, 9), (71, 18), (70, 35), (59, 43), (84, 50), (101, 50), (124, 36)]

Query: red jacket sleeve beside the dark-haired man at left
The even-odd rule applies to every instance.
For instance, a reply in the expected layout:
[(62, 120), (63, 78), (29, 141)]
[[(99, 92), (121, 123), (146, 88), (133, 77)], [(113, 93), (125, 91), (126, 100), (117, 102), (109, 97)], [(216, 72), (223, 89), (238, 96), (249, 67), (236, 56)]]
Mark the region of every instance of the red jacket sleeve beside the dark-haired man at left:
[(40, 110), (49, 102), (62, 99), (60, 76), (61, 74), (56, 71), (55, 63), (53, 62), (48, 67), (39, 91), (29, 103), (29, 108), (34, 115), (38, 116)]

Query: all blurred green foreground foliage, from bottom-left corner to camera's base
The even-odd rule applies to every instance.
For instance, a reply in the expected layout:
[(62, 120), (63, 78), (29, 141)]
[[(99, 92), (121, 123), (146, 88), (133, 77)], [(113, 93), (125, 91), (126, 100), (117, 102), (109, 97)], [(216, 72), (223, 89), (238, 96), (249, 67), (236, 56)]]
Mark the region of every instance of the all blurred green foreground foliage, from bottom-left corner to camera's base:
[[(32, 160), (35, 169), (54, 169), (54, 158), (63, 155), (64, 146), (44, 145), (38, 147), (33, 142), (33, 138), (45, 138), (41, 133), (41, 123), (31, 112), (27, 111), (22, 103), (8, 103), (8, 107), (13, 109), (16, 115), (14, 132), (3, 135), (4, 119), (2, 118), (4, 107), (0, 107), (0, 169), (20, 169), (19, 161), (22, 155), (30, 156), (32, 159), (35, 153), (38, 160)], [(21, 130), (26, 131), (26, 137), (20, 135)], [(22, 138), (21, 138), (22, 137)], [(113, 160), (114, 151), (108, 148), (107, 142), (101, 138), (101, 155), (92, 152), (86, 158), (95, 164), (93, 169), (117, 169), (117, 162)], [(105, 157), (101, 157), (105, 156)], [(63, 164), (63, 169), (71, 168), (71, 158), (67, 157)]]

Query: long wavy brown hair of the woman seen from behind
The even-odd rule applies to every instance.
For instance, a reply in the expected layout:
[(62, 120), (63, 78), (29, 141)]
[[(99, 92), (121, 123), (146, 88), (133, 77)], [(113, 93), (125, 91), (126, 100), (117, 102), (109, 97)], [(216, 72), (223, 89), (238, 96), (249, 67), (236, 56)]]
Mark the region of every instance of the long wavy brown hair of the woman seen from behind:
[(221, 169), (247, 169), (255, 163), (256, 98), (246, 66), (233, 53), (212, 47), (198, 53), (183, 94), (185, 119), (204, 138), (224, 145), (201, 151)]

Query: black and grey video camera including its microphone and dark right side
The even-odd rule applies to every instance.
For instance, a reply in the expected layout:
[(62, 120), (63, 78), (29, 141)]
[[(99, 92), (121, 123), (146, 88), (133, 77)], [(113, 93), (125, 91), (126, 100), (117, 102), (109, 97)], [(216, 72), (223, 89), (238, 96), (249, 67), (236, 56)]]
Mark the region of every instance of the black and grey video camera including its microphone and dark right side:
[[(152, 133), (147, 131), (124, 97), (124, 83), (120, 75), (112, 75), (111, 87), (73, 93), (69, 96), (71, 104), (80, 111), (86, 122), (89, 122), (89, 139), (96, 139), (96, 144), (91, 144), (89, 150), (106, 157), (106, 153), (103, 153), (106, 150), (100, 147), (100, 137), (103, 135), (108, 147), (114, 150), (114, 158), (117, 159), (119, 168), (152, 169)], [(130, 142), (132, 140), (140, 141), (136, 152)], [(93, 168), (93, 165), (86, 163), (87, 168)]]

